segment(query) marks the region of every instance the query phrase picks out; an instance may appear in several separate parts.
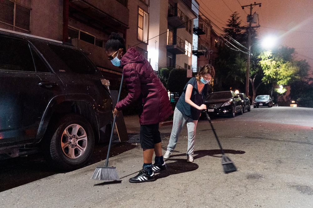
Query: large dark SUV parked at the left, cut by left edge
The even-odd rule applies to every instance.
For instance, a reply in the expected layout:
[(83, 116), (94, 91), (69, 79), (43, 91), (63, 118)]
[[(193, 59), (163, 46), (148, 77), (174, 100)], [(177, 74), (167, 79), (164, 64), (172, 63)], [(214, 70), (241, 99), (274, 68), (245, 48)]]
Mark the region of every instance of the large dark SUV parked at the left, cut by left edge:
[(74, 169), (110, 135), (109, 81), (73, 46), (0, 29), (0, 83), (1, 158), (37, 148)]

